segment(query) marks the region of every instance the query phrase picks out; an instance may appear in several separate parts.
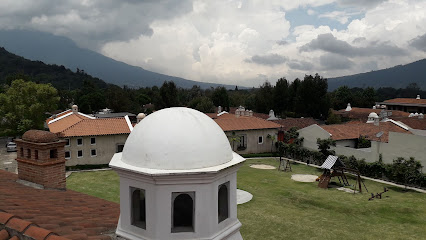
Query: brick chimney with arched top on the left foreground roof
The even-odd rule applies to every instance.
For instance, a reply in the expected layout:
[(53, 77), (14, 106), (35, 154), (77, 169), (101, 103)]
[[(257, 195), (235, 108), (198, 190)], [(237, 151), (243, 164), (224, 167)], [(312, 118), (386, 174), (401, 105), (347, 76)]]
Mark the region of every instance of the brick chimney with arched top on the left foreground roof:
[(51, 132), (29, 130), (15, 142), (19, 179), (44, 188), (66, 189), (64, 140)]

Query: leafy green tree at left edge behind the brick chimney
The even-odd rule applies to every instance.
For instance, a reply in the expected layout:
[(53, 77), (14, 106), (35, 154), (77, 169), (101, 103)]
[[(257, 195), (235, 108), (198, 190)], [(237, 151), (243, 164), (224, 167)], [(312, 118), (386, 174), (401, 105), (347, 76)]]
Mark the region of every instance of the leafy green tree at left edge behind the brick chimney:
[(0, 93), (0, 132), (22, 135), (30, 129), (43, 129), (46, 112), (56, 110), (58, 91), (50, 84), (15, 80)]

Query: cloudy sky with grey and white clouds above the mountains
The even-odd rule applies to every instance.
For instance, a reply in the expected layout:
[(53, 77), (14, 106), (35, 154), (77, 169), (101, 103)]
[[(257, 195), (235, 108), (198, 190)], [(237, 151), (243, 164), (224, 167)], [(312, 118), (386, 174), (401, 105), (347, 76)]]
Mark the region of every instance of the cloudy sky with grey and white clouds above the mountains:
[(426, 57), (426, 0), (1, 0), (0, 29), (196, 81), (258, 86)]

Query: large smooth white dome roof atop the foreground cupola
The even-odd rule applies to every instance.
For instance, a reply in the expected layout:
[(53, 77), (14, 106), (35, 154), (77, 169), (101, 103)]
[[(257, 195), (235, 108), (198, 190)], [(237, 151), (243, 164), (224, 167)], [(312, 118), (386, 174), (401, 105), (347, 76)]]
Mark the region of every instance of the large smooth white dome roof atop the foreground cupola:
[(188, 170), (233, 159), (229, 141), (210, 117), (190, 108), (148, 115), (127, 138), (121, 161), (140, 168)]

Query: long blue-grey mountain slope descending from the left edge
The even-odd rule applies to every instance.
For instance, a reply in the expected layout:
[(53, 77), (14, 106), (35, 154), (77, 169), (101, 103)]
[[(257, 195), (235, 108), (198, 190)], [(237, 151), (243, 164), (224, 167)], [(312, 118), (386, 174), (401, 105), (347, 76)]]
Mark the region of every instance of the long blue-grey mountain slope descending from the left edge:
[(68, 38), (44, 32), (0, 30), (0, 47), (31, 60), (63, 65), (73, 71), (79, 68), (92, 76), (120, 86), (152, 87), (161, 86), (164, 81), (173, 81), (177, 86), (183, 88), (191, 88), (193, 85), (198, 85), (201, 88), (217, 86), (225, 86), (228, 89), (235, 88), (235, 85), (196, 82), (147, 71), (105, 57), (102, 54), (79, 48)]

